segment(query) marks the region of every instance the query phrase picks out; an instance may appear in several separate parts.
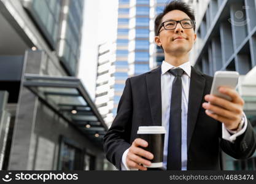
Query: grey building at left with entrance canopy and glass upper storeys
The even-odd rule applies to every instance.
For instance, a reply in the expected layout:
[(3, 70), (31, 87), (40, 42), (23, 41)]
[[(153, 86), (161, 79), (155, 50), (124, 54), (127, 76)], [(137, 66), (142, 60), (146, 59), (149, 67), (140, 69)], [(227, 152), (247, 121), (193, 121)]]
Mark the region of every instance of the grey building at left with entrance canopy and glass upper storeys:
[(109, 169), (107, 126), (76, 78), (83, 4), (0, 1), (1, 169)]

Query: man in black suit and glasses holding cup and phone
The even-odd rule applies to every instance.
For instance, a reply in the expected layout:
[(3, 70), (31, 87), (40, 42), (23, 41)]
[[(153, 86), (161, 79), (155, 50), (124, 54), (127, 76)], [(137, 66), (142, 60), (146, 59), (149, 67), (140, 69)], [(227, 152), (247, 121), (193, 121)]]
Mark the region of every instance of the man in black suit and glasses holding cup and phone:
[(221, 150), (236, 159), (253, 155), (256, 137), (242, 111), (244, 101), (227, 87), (219, 91), (231, 101), (209, 94), (212, 77), (189, 62), (195, 40), (193, 10), (170, 2), (155, 19), (155, 43), (165, 61), (126, 80), (117, 116), (104, 136), (106, 157), (118, 169), (147, 170), (151, 164), (152, 153), (143, 149), (148, 143), (137, 136), (139, 126), (165, 126), (161, 169), (220, 170)]

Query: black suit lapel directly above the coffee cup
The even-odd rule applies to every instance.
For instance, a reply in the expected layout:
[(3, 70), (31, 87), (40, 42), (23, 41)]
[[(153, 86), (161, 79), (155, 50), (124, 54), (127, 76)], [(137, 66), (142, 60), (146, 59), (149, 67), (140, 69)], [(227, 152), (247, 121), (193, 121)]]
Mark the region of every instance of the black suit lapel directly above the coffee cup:
[(153, 125), (161, 126), (161, 66), (147, 73), (146, 83)]

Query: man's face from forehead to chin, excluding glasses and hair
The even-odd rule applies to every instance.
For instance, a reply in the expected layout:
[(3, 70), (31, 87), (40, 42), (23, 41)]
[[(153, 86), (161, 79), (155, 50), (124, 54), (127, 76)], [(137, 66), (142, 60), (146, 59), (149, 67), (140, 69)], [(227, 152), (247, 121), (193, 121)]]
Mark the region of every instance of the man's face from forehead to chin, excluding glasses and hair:
[[(171, 12), (166, 13), (162, 18), (162, 22), (168, 20), (184, 20), (190, 19), (188, 15), (180, 10), (172, 10)], [(178, 39), (177, 37), (182, 37)], [(173, 30), (165, 30), (163, 26), (160, 28), (160, 33), (158, 36), (155, 36), (155, 42), (158, 46), (163, 47), (165, 53), (173, 54), (185, 54), (188, 53), (196, 40), (196, 34), (191, 29), (184, 29), (177, 23), (177, 26)]]

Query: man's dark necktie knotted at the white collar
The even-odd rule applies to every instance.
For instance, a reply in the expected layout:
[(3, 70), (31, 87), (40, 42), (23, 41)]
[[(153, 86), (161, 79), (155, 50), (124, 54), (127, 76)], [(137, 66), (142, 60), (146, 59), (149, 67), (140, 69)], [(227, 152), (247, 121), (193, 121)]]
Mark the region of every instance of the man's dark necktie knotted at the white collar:
[(175, 76), (171, 91), (167, 170), (181, 170), (181, 98), (183, 69), (169, 70)]

